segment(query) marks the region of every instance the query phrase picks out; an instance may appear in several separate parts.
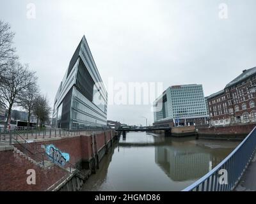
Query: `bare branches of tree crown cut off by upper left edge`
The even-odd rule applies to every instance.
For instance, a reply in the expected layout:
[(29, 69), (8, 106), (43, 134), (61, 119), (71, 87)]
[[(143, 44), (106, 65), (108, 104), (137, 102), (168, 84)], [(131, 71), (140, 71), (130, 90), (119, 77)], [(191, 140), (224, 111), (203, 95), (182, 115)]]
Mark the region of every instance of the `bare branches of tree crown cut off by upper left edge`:
[(6, 80), (6, 75), (3, 75), (3, 73), (6, 71), (8, 63), (17, 59), (15, 55), (16, 49), (13, 47), (15, 34), (10, 29), (11, 27), (8, 23), (0, 20), (0, 83)]

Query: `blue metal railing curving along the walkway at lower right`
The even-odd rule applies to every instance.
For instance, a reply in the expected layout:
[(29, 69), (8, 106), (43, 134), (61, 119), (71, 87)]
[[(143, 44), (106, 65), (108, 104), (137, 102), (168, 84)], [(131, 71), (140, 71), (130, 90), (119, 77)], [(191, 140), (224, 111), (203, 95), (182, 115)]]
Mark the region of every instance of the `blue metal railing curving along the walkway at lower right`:
[(232, 191), (256, 149), (256, 127), (218, 166), (183, 191)]

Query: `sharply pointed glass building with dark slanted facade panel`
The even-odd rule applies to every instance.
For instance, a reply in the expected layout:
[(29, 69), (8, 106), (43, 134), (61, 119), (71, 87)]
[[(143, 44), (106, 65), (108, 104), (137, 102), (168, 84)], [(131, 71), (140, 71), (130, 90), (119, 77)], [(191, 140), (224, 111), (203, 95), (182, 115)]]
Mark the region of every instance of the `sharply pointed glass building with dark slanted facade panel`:
[(83, 36), (60, 83), (52, 126), (85, 129), (107, 125), (108, 93)]

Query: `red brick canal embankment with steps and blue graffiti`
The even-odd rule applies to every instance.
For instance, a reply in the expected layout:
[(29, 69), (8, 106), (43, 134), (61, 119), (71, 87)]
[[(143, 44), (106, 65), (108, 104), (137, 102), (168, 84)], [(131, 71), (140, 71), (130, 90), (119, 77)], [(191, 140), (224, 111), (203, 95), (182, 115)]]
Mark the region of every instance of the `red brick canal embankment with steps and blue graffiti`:
[[(38, 137), (0, 145), (0, 191), (79, 191), (113, 146), (114, 131)], [(13, 138), (14, 140), (14, 138)], [(48, 156), (52, 154), (52, 157)], [(35, 184), (30, 184), (28, 179)]]

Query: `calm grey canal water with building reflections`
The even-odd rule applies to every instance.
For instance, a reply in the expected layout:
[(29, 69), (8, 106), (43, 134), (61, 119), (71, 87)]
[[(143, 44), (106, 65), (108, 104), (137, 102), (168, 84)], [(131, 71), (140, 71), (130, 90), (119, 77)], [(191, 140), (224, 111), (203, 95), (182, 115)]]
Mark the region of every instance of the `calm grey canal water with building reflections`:
[(239, 142), (127, 133), (82, 191), (180, 191), (204, 176)]

